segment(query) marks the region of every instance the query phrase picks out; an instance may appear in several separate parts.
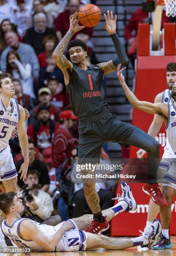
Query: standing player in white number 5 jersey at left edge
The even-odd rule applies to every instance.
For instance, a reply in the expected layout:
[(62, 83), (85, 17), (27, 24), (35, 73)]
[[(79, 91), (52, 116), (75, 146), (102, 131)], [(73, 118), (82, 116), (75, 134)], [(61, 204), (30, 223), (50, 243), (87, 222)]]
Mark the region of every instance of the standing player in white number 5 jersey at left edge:
[[(24, 157), (20, 167), (20, 179), (26, 179), (29, 164), (28, 137), (25, 129), (25, 111), (18, 102), (12, 98), (15, 94), (13, 83), (9, 74), (0, 74), (0, 181), (3, 182), (5, 191), (18, 192), (18, 173), (10, 152), (9, 140), (15, 127), (18, 129), (18, 138)], [(4, 235), (0, 230), (0, 242), (5, 246)]]

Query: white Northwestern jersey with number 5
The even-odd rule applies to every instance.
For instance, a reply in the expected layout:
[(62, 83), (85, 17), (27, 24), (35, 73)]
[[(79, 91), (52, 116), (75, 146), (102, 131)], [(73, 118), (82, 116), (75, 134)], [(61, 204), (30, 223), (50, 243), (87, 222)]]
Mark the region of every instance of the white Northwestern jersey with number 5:
[(12, 113), (8, 112), (0, 100), (0, 151), (8, 146), (11, 134), (20, 120), (18, 102), (11, 98)]

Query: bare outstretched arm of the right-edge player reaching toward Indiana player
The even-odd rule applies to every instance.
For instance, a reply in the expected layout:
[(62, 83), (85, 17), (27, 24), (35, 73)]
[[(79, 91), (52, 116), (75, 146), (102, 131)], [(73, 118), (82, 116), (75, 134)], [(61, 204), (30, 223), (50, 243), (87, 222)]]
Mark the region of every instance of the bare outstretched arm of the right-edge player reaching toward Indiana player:
[(117, 67), (117, 77), (120, 81), (120, 84), (122, 85), (122, 88), (125, 92), (126, 97), (128, 98), (130, 104), (134, 108), (138, 108), (146, 113), (149, 114), (163, 114), (166, 117), (168, 117), (168, 105), (164, 103), (151, 103), (147, 101), (140, 101), (138, 98), (134, 95), (134, 93), (129, 89), (128, 85), (125, 83), (125, 78), (122, 74), (123, 70), (126, 69), (126, 67), (121, 68), (121, 64)]

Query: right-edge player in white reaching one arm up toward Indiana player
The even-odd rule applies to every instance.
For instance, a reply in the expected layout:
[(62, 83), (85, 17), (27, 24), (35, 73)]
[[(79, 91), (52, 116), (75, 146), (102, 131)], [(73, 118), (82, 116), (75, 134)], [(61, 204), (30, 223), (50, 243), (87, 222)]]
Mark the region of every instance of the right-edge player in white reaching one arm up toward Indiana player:
[[(125, 78), (122, 75), (125, 68), (120, 69), (120, 67), (121, 64), (117, 67), (117, 77), (130, 104), (134, 108), (138, 108), (146, 113), (158, 114), (161, 116), (166, 124), (166, 135), (173, 151), (172, 158), (173, 160), (176, 159), (176, 82), (173, 84), (171, 89), (171, 98), (173, 99), (171, 104), (140, 101), (134, 93), (130, 91), (125, 83)], [(169, 223), (171, 221), (171, 203), (174, 195), (176, 194), (176, 161), (171, 161), (171, 159), (165, 159), (164, 161), (167, 161), (168, 168), (163, 177), (163, 196), (166, 198), (168, 206), (160, 207), (162, 236), (153, 249), (165, 249), (172, 247), (172, 243), (169, 238)]]

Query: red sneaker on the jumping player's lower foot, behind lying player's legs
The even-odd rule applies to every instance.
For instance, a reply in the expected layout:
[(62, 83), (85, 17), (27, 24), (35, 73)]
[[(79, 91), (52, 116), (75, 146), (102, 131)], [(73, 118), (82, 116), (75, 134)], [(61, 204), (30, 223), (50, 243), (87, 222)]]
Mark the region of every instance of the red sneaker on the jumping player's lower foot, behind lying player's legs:
[(89, 232), (89, 233), (93, 233), (93, 234), (97, 234), (100, 231), (103, 232), (103, 231), (107, 230), (110, 227), (110, 225), (107, 222), (106, 217), (107, 216), (103, 216), (103, 218), (104, 218), (104, 222), (103, 223), (100, 223), (99, 221), (96, 221), (96, 220), (88, 220), (88, 222), (92, 222), (92, 223), (84, 231)]

